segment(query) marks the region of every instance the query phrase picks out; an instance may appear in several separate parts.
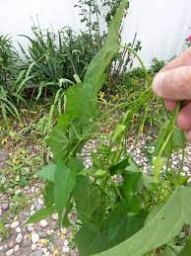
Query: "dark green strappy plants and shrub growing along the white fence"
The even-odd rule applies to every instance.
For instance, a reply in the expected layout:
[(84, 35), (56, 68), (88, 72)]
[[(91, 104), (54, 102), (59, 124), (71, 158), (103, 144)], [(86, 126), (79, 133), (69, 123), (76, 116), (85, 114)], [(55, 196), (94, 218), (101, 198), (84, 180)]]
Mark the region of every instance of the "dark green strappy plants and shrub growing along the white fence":
[[(64, 109), (65, 90), (84, 79), (89, 63), (105, 42), (107, 27), (120, 2), (79, 0), (76, 7), (80, 9), (82, 24), (85, 24), (84, 32), (76, 35), (71, 28), (63, 28), (55, 33), (52, 30), (43, 31), (39, 25), (33, 26), (32, 37), (20, 35), (29, 42), (27, 48), (19, 43), (20, 54), (10, 38), (1, 36), (0, 108), (7, 127), (8, 114), (21, 123), (18, 111), (21, 105), (31, 106), (36, 101), (53, 96), (50, 119), (54, 110), (60, 113)], [(104, 32), (99, 26), (102, 16), (106, 17)], [(128, 46), (138, 52), (141, 42), (135, 35), (133, 43)], [(111, 81), (114, 83), (122, 73), (131, 69), (134, 57), (127, 48), (113, 56), (107, 67), (105, 89)]]

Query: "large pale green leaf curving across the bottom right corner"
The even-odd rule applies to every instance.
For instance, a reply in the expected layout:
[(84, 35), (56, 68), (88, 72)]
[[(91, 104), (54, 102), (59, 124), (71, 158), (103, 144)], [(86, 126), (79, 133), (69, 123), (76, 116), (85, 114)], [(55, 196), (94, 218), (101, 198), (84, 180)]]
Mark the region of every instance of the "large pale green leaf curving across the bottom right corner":
[(177, 189), (155, 217), (140, 231), (99, 256), (140, 256), (165, 245), (190, 221), (191, 188)]

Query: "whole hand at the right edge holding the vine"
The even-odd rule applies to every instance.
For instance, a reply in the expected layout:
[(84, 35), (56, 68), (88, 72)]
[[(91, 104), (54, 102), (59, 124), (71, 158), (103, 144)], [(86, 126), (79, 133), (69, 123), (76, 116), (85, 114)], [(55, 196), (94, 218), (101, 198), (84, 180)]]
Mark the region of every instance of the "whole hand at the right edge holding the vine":
[(159, 71), (153, 82), (153, 90), (164, 99), (168, 111), (174, 111), (177, 102), (183, 102), (177, 126), (185, 131), (191, 143), (191, 47)]

